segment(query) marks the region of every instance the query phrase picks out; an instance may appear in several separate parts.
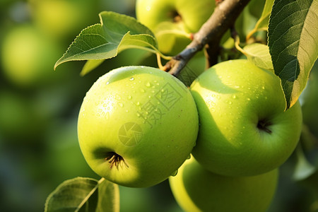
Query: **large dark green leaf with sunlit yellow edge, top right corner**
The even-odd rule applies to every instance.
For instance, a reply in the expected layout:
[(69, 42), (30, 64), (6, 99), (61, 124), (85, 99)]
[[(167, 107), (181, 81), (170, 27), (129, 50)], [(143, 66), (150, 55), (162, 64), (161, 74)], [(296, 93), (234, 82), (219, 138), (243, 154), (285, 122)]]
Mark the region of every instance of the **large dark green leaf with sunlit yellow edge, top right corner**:
[(269, 52), (281, 78), (286, 108), (298, 100), (318, 57), (318, 0), (276, 0), (269, 20)]

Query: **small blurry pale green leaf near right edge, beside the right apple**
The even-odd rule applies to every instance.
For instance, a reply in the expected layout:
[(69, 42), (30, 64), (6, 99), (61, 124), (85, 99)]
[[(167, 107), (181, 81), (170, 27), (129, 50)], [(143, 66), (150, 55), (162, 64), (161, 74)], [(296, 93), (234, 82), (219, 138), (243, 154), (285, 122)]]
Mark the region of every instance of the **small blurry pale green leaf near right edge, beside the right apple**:
[(314, 172), (317, 171), (317, 169), (305, 158), (305, 154), (302, 151), (300, 145), (298, 145), (298, 147), (296, 148), (295, 153), (297, 157), (297, 163), (295, 166), (295, 171), (293, 173), (293, 179), (296, 181), (300, 181), (306, 179), (307, 177), (310, 177), (312, 174), (314, 174)]

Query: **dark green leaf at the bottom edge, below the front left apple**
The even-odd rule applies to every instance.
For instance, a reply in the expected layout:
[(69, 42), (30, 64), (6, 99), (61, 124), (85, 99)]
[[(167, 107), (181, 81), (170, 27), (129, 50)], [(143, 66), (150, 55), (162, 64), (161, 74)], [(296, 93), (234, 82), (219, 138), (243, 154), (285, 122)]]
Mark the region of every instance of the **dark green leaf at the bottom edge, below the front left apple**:
[(119, 187), (104, 178), (76, 177), (64, 181), (47, 197), (45, 212), (119, 212)]

